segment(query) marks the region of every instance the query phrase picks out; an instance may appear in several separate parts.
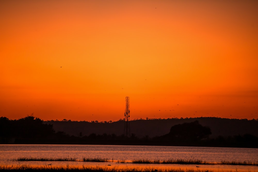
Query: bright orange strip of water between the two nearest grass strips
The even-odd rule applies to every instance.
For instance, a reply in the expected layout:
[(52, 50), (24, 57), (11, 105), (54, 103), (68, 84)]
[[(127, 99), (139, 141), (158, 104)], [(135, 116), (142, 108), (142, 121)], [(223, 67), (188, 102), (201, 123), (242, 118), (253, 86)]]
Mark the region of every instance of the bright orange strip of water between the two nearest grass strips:
[(180, 164), (132, 164), (132, 163), (114, 163), (106, 165), (28, 165), (20, 164), (15, 168), (39, 168), (39, 169), (103, 169), (104, 171), (186, 171), (186, 172), (258, 172), (258, 166), (239, 166), (239, 165), (180, 165)]

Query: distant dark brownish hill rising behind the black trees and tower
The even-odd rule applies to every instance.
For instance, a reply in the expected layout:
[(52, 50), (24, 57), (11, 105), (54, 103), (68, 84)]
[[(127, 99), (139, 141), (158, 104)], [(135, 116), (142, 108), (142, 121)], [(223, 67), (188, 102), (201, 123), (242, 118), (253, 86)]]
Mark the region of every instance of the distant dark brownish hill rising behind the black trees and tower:
[[(183, 124), (185, 122), (194, 122), (198, 120), (202, 126), (211, 129), (209, 138), (218, 136), (228, 137), (233, 135), (251, 134), (258, 137), (258, 120), (247, 119), (227, 119), (216, 117), (200, 117), (200, 118), (172, 118), (172, 119), (148, 119), (130, 121), (131, 134), (136, 137), (155, 137), (168, 134), (174, 125)], [(106, 134), (124, 134), (124, 120), (116, 122), (87, 122), (87, 121), (44, 121), (45, 124), (53, 125), (53, 129), (57, 132), (65, 132), (72, 136), (88, 136), (92, 133), (102, 135)]]

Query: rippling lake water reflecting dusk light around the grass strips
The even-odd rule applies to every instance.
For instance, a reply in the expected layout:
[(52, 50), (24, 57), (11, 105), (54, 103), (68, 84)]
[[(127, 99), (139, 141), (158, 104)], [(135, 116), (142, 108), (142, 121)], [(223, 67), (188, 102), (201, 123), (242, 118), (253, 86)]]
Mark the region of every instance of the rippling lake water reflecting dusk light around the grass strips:
[[(110, 162), (81, 161), (13, 161), (19, 157), (33, 158), (108, 158)], [(155, 168), (155, 169), (194, 169), (196, 165), (175, 164), (132, 164), (117, 163), (117, 160), (131, 162), (134, 159), (149, 160), (203, 160), (221, 161), (258, 161), (256, 148), (215, 148), (187, 146), (129, 146), (129, 145), (42, 145), (42, 144), (2, 144), (0, 145), (0, 165), (33, 166), (107, 166), (116, 168)], [(113, 160), (113, 161), (112, 161)], [(256, 171), (258, 166), (198, 165), (200, 171)]]

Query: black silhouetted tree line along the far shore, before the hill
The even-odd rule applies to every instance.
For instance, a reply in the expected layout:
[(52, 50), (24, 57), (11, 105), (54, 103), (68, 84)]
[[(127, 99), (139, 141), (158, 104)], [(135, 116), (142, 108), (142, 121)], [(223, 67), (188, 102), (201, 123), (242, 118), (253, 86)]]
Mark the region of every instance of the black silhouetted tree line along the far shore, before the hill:
[(65, 132), (55, 132), (53, 125), (27, 116), (18, 120), (0, 117), (0, 143), (14, 144), (117, 144), (117, 145), (174, 145), (174, 146), (223, 146), (258, 148), (258, 137), (251, 134), (218, 136), (209, 138), (212, 134), (208, 126), (202, 126), (199, 121), (184, 122), (173, 125), (170, 132), (162, 135), (141, 138), (134, 133), (129, 138), (116, 134), (95, 134), (70, 136)]

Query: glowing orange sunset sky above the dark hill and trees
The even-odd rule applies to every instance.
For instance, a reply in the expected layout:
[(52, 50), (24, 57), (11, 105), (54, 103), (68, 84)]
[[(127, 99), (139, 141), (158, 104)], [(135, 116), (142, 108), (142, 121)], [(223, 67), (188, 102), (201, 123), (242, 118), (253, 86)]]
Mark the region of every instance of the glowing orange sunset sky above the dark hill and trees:
[(257, 119), (257, 7), (1, 1), (0, 116)]

